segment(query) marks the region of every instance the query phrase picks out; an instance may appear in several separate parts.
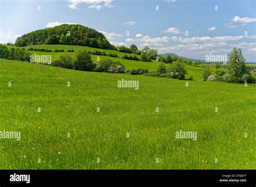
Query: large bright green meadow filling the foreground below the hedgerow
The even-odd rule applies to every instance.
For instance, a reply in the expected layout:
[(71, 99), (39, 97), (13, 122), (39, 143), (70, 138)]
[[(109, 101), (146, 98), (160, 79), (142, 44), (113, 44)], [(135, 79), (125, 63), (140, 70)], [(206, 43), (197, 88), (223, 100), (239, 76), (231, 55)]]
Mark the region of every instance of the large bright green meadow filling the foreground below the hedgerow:
[(0, 169), (256, 169), (256, 85), (188, 82), (0, 59)]

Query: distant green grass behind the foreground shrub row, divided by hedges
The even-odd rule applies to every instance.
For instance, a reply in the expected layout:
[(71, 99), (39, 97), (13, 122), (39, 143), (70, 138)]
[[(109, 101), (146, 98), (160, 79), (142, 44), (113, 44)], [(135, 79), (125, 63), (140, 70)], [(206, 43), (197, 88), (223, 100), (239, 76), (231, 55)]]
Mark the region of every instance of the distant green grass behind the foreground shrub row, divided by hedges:
[[(125, 65), (125, 68), (145, 68), (145, 69), (149, 69), (149, 70), (156, 70), (157, 67), (159, 66), (159, 62), (157, 61), (152, 61), (152, 62), (140, 62), (140, 61), (134, 61), (134, 60), (126, 60), (126, 59), (122, 59), (120, 57), (126, 55), (134, 55), (134, 54), (128, 54), (128, 53), (121, 53), (118, 51), (113, 51), (113, 50), (106, 50), (106, 49), (97, 49), (97, 48), (92, 48), (92, 47), (85, 47), (85, 46), (70, 46), (70, 45), (36, 45), (36, 46), (29, 46), (32, 48), (48, 48), (48, 49), (52, 49), (52, 51), (54, 49), (64, 49), (65, 52), (35, 52), (35, 51), (31, 51), (32, 54), (36, 53), (38, 55), (52, 55), (52, 60), (55, 60), (57, 58), (57, 56), (59, 54), (69, 54), (71, 55), (73, 58), (76, 57), (76, 53), (79, 51), (83, 51), (84, 49), (86, 49), (87, 51), (105, 51), (105, 53), (114, 53), (114, 54), (118, 54), (118, 58), (116, 57), (109, 57), (109, 56), (99, 56), (100, 60), (102, 59), (111, 59), (113, 61), (120, 61), (121, 63), (123, 63)], [(24, 48), (29, 48), (29, 47), (24, 47)], [(68, 53), (66, 52), (67, 49), (73, 49), (75, 51), (75, 53)], [(98, 55), (91, 55), (91, 58), (93, 60), (93, 62), (97, 63), (97, 56)], [(138, 55), (137, 55), (138, 56)], [(168, 65), (167, 65), (168, 66)], [(200, 67), (194, 67), (192, 65), (188, 65), (185, 64), (185, 68), (187, 69), (187, 75), (186, 78), (193, 76), (194, 80), (201, 80), (201, 76), (203, 74), (203, 71), (205, 70), (202, 66)], [(215, 68), (212, 66), (210, 67), (211, 72), (214, 74), (215, 72)]]

